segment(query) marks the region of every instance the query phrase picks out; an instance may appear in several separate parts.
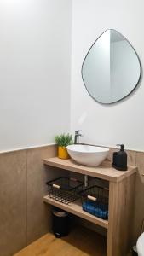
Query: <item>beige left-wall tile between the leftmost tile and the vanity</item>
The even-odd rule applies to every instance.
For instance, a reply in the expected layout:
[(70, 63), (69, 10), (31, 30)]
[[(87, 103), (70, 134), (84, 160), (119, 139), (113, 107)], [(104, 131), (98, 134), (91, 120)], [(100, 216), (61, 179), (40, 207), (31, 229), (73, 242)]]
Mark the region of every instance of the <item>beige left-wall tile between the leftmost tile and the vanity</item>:
[(27, 151), (27, 243), (35, 241), (51, 228), (49, 206), (43, 203), (48, 194), (48, 180), (60, 177), (63, 172), (43, 166), (43, 159), (56, 155), (55, 146)]

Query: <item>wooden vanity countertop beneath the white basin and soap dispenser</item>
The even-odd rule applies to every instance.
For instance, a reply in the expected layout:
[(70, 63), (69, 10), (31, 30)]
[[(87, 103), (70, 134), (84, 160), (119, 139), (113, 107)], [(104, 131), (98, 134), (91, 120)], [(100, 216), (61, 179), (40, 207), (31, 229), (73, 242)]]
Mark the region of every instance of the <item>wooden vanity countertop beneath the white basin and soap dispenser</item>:
[(99, 177), (107, 181), (118, 183), (126, 177), (130, 177), (133, 173), (137, 172), (136, 166), (129, 166), (128, 171), (120, 172), (112, 168), (112, 163), (108, 160), (104, 161), (101, 166), (82, 166), (72, 159), (62, 160), (58, 157), (53, 157), (44, 160), (47, 166), (55, 166), (60, 169), (65, 169), (71, 172), (78, 172), (91, 177)]

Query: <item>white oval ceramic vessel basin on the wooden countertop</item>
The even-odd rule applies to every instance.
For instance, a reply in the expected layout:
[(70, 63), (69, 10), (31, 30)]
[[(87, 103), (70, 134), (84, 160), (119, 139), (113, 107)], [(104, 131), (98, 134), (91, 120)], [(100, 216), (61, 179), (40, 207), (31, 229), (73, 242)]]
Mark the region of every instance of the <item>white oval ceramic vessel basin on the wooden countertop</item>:
[(109, 149), (89, 145), (69, 145), (66, 147), (73, 160), (85, 166), (100, 166), (107, 158)]

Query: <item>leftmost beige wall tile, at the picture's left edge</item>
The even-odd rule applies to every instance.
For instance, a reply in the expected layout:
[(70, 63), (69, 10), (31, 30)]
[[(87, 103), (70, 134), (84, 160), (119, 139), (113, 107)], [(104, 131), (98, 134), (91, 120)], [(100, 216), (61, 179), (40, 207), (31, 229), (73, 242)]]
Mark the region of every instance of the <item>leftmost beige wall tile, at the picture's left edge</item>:
[(26, 247), (26, 151), (0, 154), (0, 256)]

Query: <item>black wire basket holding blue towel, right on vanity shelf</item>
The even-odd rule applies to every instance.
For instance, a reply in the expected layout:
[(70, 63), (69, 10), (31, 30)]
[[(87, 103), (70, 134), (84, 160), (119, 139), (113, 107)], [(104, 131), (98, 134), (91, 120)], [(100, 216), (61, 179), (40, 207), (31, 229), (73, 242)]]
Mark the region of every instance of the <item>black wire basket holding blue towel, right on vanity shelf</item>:
[(79, 195), (85, 212), (98, 218), (108, 219), (108, 188), (92, 186), (79, 192)]

